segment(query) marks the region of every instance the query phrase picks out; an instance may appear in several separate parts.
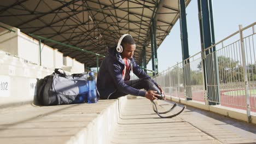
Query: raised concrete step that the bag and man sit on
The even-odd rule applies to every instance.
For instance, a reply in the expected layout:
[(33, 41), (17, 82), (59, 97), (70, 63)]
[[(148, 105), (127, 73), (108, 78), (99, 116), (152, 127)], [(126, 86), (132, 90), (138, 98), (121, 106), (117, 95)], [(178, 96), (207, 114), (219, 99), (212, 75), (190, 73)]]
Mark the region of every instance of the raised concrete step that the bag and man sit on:
[(108, 143), (117, 123), (117, 105), (117, 100), (100, 100), (0, 109), (0, 143)]

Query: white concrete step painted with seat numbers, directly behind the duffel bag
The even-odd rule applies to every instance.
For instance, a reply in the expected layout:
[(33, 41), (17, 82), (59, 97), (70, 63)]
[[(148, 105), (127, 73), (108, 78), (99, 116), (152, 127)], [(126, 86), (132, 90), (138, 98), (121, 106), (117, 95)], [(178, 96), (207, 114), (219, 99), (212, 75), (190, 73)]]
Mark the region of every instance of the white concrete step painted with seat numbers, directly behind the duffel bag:
[[(27, 104), (36, 96), (39, 79), (52, 74), (49, 68), (0, 51), (0, 107)], [(70, 75), (68, 71), (65, 71)]]

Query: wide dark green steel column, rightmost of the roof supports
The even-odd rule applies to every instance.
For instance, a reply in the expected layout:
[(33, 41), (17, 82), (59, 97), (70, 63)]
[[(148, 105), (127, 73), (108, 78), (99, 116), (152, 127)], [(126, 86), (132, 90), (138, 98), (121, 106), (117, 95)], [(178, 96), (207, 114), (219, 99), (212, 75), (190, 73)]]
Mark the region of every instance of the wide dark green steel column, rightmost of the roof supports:
[[(219, 93), (216, 92), (217, 86), (214, 86), (217, 83), (212, 83), (212, 81), (218, 81), (218, 74), (214, 66), (216, 66), (216, 59), (213, 61), (213, 53), (212, 49), (207, 49), (207, 47), (212, 46), (212, 34), (211, 34), (211, 22), (209, 16), (209, 7), (208, 1), (205, 0), (197, 0), (198, 10), (199, 10), (199, 25), (200, 25), (200, 39), (201, 39), (201, 52), (202, 56), (202, 69), (203, 69), (203, 76), (205, 81), (205, 91), (208, 94), (208, 101), (209, 105), (217, 105), (220, 102)], [(213, 27), (212, 27), (213, 31)], [(207, 49), (207, 50), (206, 50)], [(213, 65), (215, 64), (215, 65)], [(208, 79), (207, 79), (208, 78)], [(213, 85), (214, 84), (214, 85)]]

